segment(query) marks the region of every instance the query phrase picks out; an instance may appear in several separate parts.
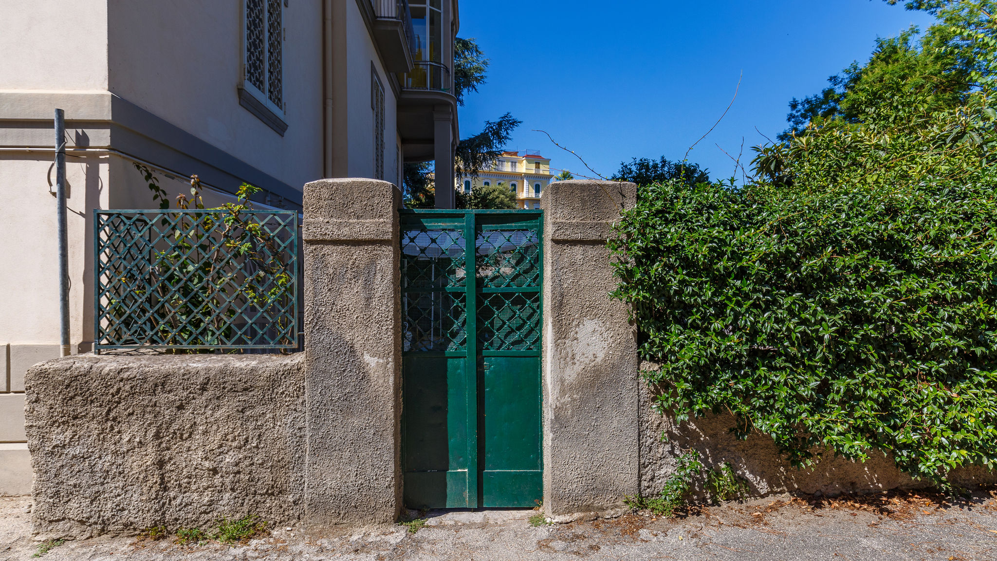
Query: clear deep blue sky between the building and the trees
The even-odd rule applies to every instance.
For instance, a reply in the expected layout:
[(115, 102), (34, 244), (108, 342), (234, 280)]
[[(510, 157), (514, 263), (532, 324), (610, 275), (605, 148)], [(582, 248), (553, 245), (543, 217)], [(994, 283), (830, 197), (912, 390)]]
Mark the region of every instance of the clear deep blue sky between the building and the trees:
[(728, 178), (751, 147), (786, 129), (788, 103), (819, 92), (876, 37), (931, 18), (881, 0), (543, 0), (461, 2), (461, 37), (492, 60), (466, 96), (461, 136), (508, 111), (522, 120), (508, 149), (539, 149), (551, 167), (586, 173), (541, 129), (610, 176), (632, 157), (689, 160)]

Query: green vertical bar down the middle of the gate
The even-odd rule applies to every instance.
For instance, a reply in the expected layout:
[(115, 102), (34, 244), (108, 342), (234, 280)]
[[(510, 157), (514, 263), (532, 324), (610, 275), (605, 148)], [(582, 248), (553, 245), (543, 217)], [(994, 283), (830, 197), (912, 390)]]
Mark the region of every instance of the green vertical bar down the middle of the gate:
[(468, 506), (478, 508), (478, 225), (475, 213), (464, 215), (465, 287), (468, 314)]

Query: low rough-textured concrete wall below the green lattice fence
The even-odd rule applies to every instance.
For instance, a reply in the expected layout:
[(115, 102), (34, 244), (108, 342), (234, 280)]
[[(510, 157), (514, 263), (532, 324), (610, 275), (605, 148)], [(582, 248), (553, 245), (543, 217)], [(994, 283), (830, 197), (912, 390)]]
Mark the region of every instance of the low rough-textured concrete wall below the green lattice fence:
[(28, 370), (35, 536), (302, 516), (304, 357), (92, 354)]

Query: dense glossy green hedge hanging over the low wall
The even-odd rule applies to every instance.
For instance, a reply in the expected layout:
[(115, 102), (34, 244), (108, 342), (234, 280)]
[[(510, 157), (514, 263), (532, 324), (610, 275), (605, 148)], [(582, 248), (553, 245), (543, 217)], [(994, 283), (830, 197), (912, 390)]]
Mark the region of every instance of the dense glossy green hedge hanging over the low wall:
[(610, 249), (658, 405), (733, 413), (796, 465), (993, 467), (997, 201), (957, 183), (642, 188)]

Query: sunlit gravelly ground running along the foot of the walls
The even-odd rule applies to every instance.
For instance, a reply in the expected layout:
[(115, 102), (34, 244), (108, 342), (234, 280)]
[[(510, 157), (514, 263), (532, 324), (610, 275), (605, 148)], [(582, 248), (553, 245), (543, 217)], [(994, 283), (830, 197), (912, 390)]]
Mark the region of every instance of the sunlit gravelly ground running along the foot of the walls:
[[(430, 511), (427, 524), (303, 536), (275, 528), (234, 547), (97, 538), (52, 548), (52, 560), (949, 560), (997, 561), (997, 493), (970, 499), (892, 493), (864, 498), (768, 497), (674, 519), (649, 513), (532, 527), (532, 511)], [(0, 559), (30, 559), (31, 497), (0, 498)], [(412, 513), (419, 515), (420, 513)]]

